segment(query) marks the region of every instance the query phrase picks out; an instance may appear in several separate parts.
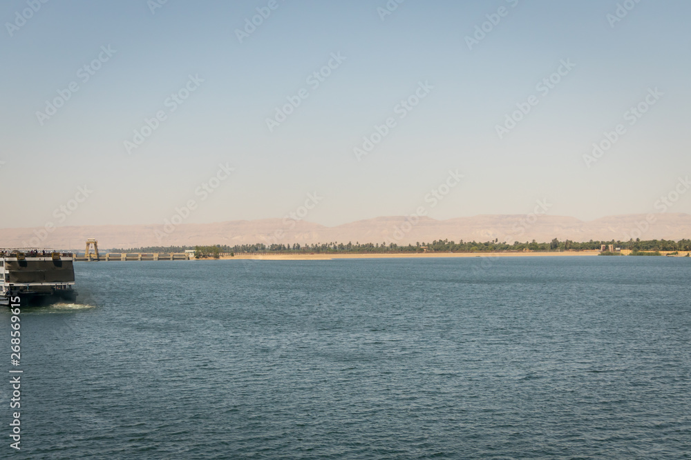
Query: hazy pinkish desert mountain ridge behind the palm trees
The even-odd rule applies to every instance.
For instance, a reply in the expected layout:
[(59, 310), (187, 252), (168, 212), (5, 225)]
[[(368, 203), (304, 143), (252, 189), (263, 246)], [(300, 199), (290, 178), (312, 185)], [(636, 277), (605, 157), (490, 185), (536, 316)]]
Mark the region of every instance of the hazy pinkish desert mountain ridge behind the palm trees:
[(415, 244), (435, 239), (450, 241), (560, 241), (688, 239), (691, 214), (626, 214), (580, 221), (574, 217), (538, 215), (477, 215), (435, 220), (404, 216), (377, 217), (326, 227), (318, 223), (290, 219), (261, 219), (216, 223), (182, 223), (167, 233), (159, 225), (66, 226), (47, 232), (42, 228), (0, 229), (0, 247), (39, 247), (82, 249), (87, 238), (96, 238), (101, 248), (140, 248), (146, 246), (194, 246), (252, 243), (397, 243)]

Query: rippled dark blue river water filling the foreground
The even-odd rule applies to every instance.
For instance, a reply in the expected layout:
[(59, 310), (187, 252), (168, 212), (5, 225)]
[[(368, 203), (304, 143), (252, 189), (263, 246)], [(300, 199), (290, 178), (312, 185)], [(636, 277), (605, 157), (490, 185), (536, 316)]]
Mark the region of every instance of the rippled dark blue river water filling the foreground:
[(691, 458), (690, 259), (76, 270), (86, 307), (22, 314), (0, 457)]

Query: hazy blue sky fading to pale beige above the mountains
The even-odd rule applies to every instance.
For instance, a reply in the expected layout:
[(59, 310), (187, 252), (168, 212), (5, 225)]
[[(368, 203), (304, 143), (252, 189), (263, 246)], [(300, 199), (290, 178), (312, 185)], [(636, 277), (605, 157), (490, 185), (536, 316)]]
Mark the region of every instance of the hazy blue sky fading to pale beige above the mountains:
[(688, 213), (690, 13), (3, 1), (0, 228)]

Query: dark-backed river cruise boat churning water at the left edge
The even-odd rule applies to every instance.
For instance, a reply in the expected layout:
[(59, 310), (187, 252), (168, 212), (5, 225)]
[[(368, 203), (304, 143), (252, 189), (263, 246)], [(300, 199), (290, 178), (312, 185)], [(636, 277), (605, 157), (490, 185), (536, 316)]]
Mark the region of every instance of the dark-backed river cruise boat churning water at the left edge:
[(76, 301), (73, 260), (71, 252), (0, 249), (0, 306)]

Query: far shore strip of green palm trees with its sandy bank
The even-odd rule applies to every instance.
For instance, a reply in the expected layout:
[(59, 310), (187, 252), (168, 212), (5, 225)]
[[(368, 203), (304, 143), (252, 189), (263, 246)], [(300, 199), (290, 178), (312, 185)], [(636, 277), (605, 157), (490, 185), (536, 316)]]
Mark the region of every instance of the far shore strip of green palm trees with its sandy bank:
[[(601, 251), (605, 248), (616, 248), (614, 251)], [(299, 243), (255, 243), (251, 245), (214, 245), (214, 246), (149, 246), (146, 248), (120, 249), (109, 252), (184, 252), (194, 250), (195, 259), (350, 259), (350, 258), (384, 258), (384, 257), (515, 257), (515, 256), (663, 256), (688, 257), (691, 252), (691, 240), (630, 240), (630, 241), (559, 241), (538, 243), (535, 240), (525, 243), (515, 241), (513, 244), (500, 243), (498, 239), (478, 243), (476, 241), (435, 240), (431, 243), (416, 243), (399, 246), (396, 243), (316, 243), (301, 245)]]

